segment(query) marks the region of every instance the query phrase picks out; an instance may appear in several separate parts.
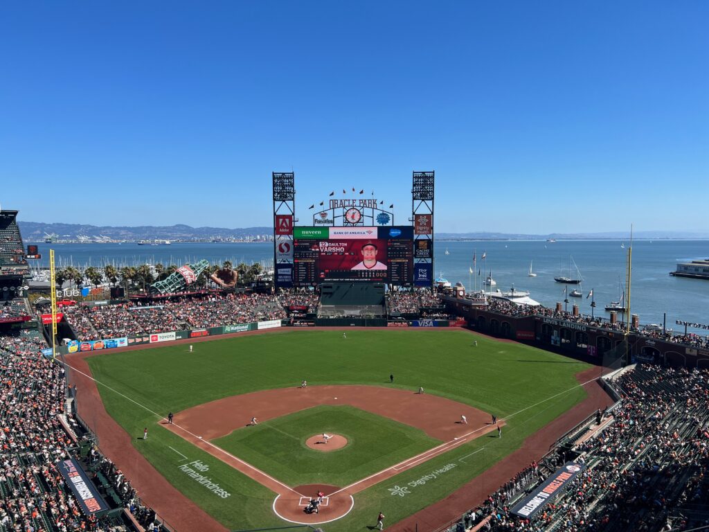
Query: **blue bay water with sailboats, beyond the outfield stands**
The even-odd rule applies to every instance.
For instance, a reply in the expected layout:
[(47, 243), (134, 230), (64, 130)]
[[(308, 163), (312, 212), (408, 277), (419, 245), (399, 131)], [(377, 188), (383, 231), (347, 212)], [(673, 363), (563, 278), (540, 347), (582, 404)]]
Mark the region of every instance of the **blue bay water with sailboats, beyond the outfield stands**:
[[(514, 284), (520, 292), (528, 291), (532, 299), (553, 308), (558, 301), (564, 301), (564, 293), (554, 281), (559, 262), (565, 264), (572, 255), (584, 269), (584, 297), (571, 301), (579, 305), (581, 314), (591, 314), (592, 299), (586, 296), (593, 289), (600, 307), (596, 308), (596, 314), (601, 315), (602, 304), (618, 301), (622, 295), (618, 292), (618, 276), (625, 275), (627, 249), (621, 248), (620, 243), (620, 240), (558, 240), (548, 246), (544, 240), (452, 240), (439, 246), (440, 251), (435, 253), (435, 269), (445, 272), (445, 277), (453, 284), (462, 282), (467, 289), (471, 284), (474, 290), (486, 288), (490, 292), (490, 287), (484, 284), (487, 275), (483, 261), (477, 260), (476, 264), (472, 261), (476, 251), (478, 257), (485, 251), (488, 272), (494, 270), (498, 286), (511, 287)], [(675, 320), (709, 321), (709, 283), (703, 279), (668, 275), (668, 270), (677, 262), (705, 257), (709, 253), (709, 241), (636, 240), (632, 247), (631, 312), (640, 316), (641, 323), (661, 323), (664, 314), (667, 323)], [(51, 248), (57, 255), (57, 267), (100, 267), (106, 264), (121, 267), (146, 262), (182, 265), (203, 258), (211, 264), (222, 264), (225, 260), (233, 265), (259, 262), (266, 269), (272, 269), (273, 260), (273, 243), (53, 244)], [(446, 248), (448, 255), (445, 255)], [(49, 249), (49, 245), (40, 244), (43, 258), (34, 261), (35, 265), (48, 265)], [(530, 260), (537, 277), (528, 277)], [(607, 312), (605, 316), (608, 316)]]

